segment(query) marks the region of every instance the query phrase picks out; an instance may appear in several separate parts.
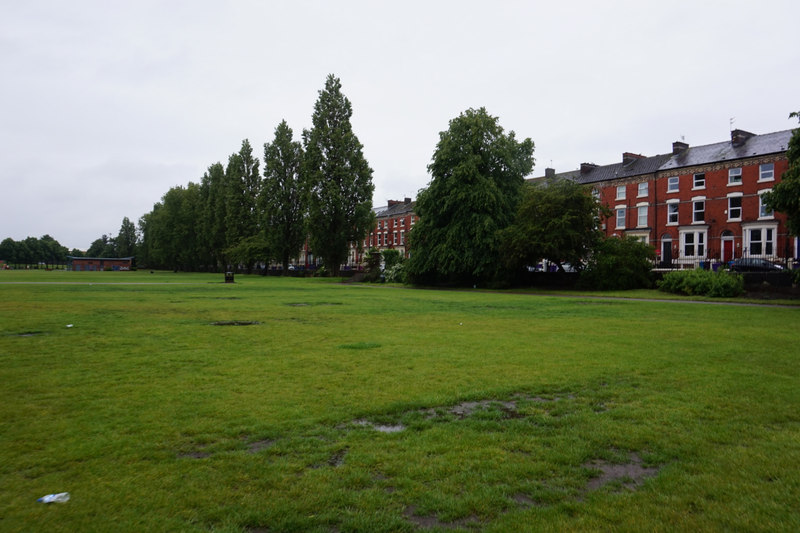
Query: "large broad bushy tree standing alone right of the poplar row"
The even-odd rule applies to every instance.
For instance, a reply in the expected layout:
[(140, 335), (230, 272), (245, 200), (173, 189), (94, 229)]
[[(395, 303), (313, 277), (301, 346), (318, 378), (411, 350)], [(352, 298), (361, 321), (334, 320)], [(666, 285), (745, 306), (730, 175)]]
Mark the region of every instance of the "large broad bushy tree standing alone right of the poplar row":
[(514, 220), (533, 149), (533, 141), (505, 133), (484, 108), (450, 121), (428, 166), (431, 181), (417, 197), (410, 281), (472, 285), (496, 275), (498, 232)]

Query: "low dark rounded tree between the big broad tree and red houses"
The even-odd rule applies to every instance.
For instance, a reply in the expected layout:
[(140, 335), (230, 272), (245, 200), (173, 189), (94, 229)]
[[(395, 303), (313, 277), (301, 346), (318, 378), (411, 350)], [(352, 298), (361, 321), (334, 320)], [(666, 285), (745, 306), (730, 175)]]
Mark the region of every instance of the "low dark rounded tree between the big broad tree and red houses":
[(580, 268), (602, 239), (607, 215), (582, 185), (550, 180), (523, 189), (514, 224), (501, 233), (501, 256), (511, 271), (546, 259)]

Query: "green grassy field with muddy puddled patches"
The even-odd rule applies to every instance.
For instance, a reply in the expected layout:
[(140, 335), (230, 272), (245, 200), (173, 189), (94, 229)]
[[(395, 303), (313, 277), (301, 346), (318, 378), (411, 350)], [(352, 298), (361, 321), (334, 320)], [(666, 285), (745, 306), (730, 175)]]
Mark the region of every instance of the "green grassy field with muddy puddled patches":
[(800, 308), (221, 279), (0, 272), (0, 530), (800, 530)]

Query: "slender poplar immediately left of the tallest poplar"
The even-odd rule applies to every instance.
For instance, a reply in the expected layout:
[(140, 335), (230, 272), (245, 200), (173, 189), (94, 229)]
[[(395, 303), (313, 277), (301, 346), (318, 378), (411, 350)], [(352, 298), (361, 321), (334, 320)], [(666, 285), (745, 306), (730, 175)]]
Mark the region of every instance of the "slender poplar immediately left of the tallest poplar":
[(292, 140), (292, 129), (282, 121), (275, 139), (264, 144), (264, 182), (261, 206), (267, 243), (273, 257), (289, 269), (305, 239), (305, 187), (300, 173), (303, 148)]

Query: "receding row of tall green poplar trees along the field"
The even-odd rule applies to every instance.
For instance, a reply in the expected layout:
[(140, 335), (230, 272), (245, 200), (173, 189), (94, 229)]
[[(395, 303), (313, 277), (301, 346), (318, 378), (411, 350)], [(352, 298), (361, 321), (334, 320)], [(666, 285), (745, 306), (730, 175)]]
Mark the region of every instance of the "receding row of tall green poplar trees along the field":
[(220, 271), (259, 264), (288, 270), (306, 239), (338, 275), (349, 243), (374, 221), (372, 169), (350, 124), (352, 107), (329, 75), (302, 143), (282, 121), (264, 144), (264, 167), (248, 140), (200, 183), (173, 187), (139, 220), (138, 263)]

